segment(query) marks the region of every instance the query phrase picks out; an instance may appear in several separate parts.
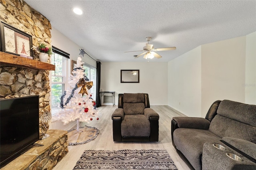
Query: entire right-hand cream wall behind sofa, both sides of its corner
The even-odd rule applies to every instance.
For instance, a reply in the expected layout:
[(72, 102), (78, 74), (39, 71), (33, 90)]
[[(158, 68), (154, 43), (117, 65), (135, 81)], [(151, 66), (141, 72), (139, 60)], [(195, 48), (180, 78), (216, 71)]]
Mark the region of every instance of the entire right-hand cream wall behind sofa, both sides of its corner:
[(170, 107), (205, 117), (224, 99), (256, 105), (256, 32), (201, 45), (168, 62)]

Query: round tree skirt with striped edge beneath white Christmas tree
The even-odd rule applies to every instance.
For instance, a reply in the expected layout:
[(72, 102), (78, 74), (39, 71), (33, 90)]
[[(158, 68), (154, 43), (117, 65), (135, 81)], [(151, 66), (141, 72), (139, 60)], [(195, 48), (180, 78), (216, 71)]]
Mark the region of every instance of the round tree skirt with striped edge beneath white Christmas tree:
[(79, 127), (80, 132), (76, 130), (76, 128), (68, 130), (68, 144), (69, 145), (77, 145), (77, 144), (84, 144), (94, 140), (100, 130), (96, 127)]

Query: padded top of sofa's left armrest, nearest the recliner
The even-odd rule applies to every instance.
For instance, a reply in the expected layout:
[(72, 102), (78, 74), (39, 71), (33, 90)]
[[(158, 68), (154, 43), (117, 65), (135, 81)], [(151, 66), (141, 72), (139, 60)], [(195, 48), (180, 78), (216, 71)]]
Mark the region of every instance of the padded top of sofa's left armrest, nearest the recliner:
[(208, 130), (210, 126), (210, 121), (202, 117), (173, 117), (172, 119), (177, 122), (178, 128)]

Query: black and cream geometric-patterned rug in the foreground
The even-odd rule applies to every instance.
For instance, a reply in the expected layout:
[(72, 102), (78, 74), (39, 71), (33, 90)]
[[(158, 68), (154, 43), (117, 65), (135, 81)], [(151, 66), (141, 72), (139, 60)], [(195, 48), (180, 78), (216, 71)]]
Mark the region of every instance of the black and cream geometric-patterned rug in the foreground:
[(85, 150), (73, 170), (178, 170), (166, 150)]

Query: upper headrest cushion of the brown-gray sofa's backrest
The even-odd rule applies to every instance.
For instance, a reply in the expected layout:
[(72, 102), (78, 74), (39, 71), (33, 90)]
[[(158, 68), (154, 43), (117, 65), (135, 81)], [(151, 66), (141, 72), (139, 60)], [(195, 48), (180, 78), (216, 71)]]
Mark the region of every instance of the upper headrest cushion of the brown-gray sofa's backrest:
[(217, 113), (224, 117), (256, 127), (256, 105), (223, 100), (220, 102)]

